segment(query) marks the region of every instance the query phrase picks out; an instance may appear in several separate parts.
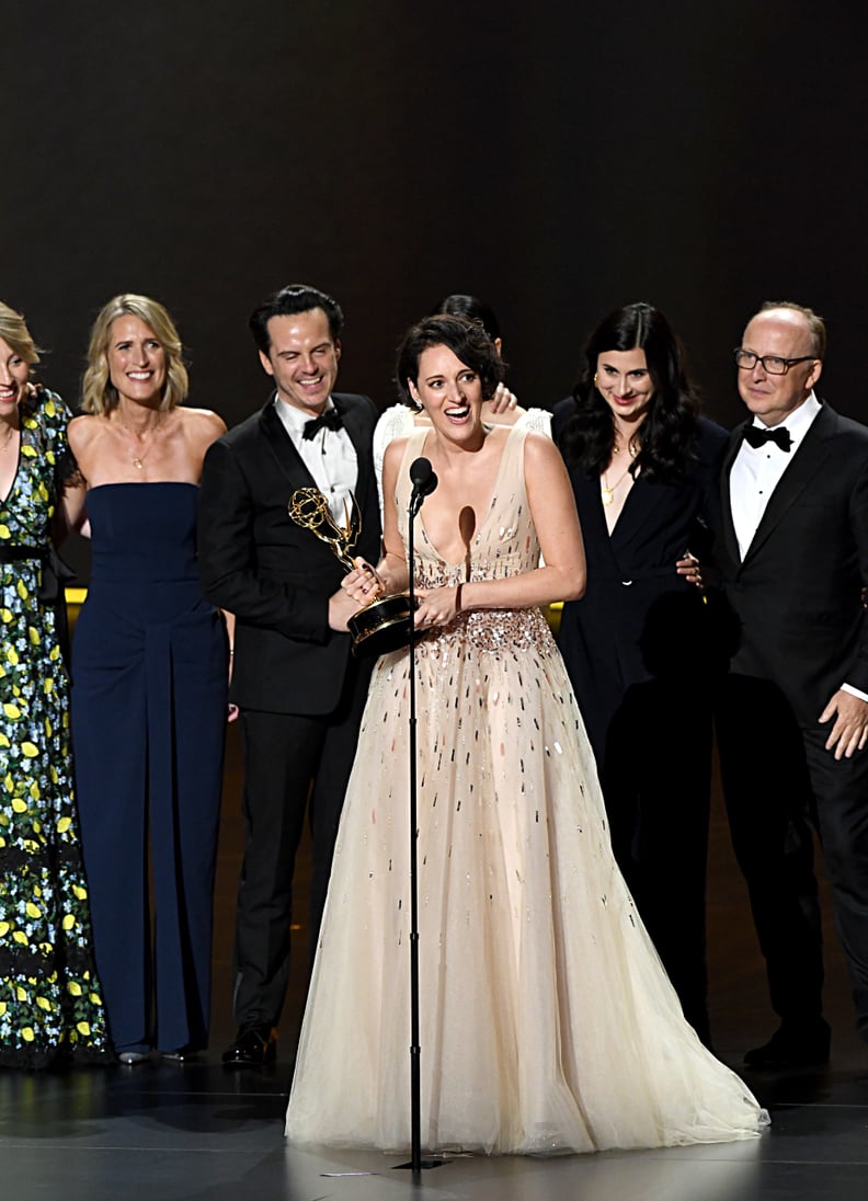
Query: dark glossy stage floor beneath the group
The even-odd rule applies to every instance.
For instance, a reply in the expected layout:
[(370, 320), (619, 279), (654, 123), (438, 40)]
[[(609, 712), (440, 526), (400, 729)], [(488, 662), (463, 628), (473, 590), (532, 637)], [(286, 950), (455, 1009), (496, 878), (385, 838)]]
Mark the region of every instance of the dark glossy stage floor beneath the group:
[[(742, 1072), (772, 1113), (760, 1140), (557, 1159), (456, 1158), (423, 1172), (378, 1153), (288, 1148), (282, 1117), (305, 981), (297, 974), (268, 1072), (228, 1072), (234, 1033), (231, 939), (240, 856), (240, 754), (233, 730), (217, 874), (212, 1048), (197, 1063), (68, 1075), (0, 1071), (0, 1176), (10, 1201), (864, 1201), (868, 1047), (852, 1029), (846, 972), (827, 920), (828, 1070)], [(774, 1029), (744, 888), (716, 799), (710, 880), (712, 1024), (717, 1053), (738, 1070)], [(300, 902), (304, 880), (300, 882)], [(300, 907), (301, 908), (301, 904)], [(828, 906), (826, 904), (828, 919)], [(304, 913), (300, 913), (304, 922)], [(299, 936), (299, 962), (304, 958)], [(424, 1048), (423, 1048), (424, 1051)]]

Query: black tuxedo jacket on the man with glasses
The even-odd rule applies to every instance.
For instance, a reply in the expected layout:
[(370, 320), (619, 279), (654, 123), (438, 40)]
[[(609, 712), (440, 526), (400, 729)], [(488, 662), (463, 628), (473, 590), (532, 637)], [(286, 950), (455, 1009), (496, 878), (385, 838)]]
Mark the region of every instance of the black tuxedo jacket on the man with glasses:
[(824, 405), (772, 492), (742, 562), (722, 474), (717, 562), (740, 622), (732, 670), (772, 680), (814, 725), (843, 683), (868, 693), (868, 429)]

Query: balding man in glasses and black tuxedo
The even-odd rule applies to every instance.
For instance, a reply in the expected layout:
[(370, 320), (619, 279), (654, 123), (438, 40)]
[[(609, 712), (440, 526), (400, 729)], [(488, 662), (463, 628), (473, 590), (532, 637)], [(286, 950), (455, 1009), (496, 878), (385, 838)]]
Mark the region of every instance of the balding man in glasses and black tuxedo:
[(718, 566), (740, 640), (718, 712), (732, 844), (780, 1026), (756, 1068), (825, 1063), (810, 824), (868, 1039), (868, 429), (818, 400), (824, 323), (764, 305), (736, 349)]

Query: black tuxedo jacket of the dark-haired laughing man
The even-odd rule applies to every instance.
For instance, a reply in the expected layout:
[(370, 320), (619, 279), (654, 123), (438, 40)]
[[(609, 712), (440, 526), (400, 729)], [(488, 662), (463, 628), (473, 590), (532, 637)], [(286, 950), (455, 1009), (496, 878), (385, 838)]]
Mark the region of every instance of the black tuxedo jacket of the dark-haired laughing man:
[[(363, 530), (351, 554), (376, 562), (381, 526), (371, 442), (377, 410), (367, 396), (334, 393), (331, 399), (359, 465)], [(329, 629), (328, 600), (345, 572), (333, 551), (287, 513), (295, 489), (313, 486), (274, 396), (205, 455), (199, 570), (211, 603), (235, 614), (231, 699), (243, 709), (324, 715), (341, 700), (351, 639)]]

